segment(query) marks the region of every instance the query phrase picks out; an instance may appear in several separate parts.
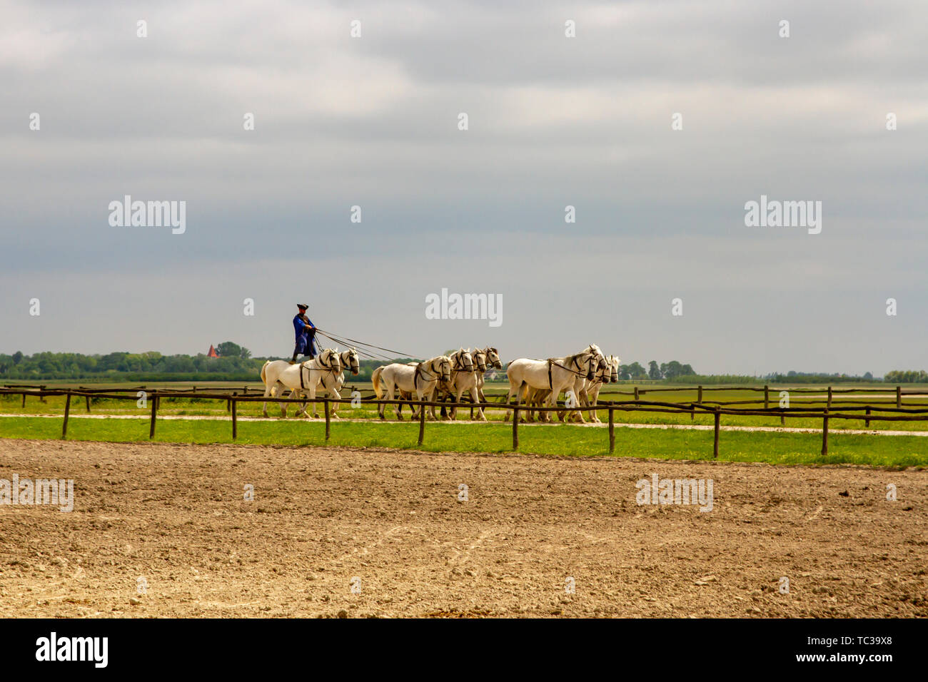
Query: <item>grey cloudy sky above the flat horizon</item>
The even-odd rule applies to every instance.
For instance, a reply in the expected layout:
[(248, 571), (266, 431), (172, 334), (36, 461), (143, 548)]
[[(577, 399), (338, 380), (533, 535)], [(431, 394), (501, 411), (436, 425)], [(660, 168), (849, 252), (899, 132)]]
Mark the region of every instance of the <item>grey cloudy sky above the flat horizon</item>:
[[(290, 354), (308, 302), (320, 328), (419, 356), (597, 342), (704, 373), (928, 368), (923, 3), (0, 18), (0, 353)], [(111, 226), (124, 195), (186, 201), (186, 232)], [(761, 195), (821, 201), (821, 233), (745, 226)], [(426, 319), (442, 288), (501, 294), (502, 325)]]

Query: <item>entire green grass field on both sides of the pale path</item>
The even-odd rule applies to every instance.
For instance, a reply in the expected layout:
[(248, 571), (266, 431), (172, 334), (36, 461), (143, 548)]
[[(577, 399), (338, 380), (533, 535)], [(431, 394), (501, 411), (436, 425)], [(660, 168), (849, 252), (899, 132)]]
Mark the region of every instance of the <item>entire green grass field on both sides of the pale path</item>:
[[(51, 384), (48, 384), (51, 388)], [(78, 383), (61, 383), (58, 386), (76, 387)], [(86, 384), (84, 384), (86, 385)], [(137, 385), (137, 384), (133, 384)], [(151, 388), (180, 388), (178, 384), (146, 384)], [(205, 386), (198, 382), (199, 386)], [(218, 382), (217, 386), (231, 387), (228, 382)], [(348, 382), (342, 391), (342, 397), (349, 397), (353, 384)], [(354, 384), (359, 390), (369, 390), (369, 384)], [(249, 384), (250, 389), (260, 388), (260, 384)], [(632, 386), (619, 384), (611, 389), (631, 391)], [(817, 388), (817, 387), (803, 387)], [(907, 391), (921, 387), (906, 387)], [(780, 387), (771, 389), (771, 405), (777, 405)], [(827, 388), (822, 392), (826, 392)], [(492, 401), (496, 396), (505, 394), (505, 385), (489, 384), (486, 393)], [(802, 398), (793, 394), (793, 398)], [(602, 395), (601, 400), (623, 400), (624, 396)], [(687, 403), (696, 399), (695, 388), (681, 387), (675, 392), (653, 392), (642, 395), (643, 400)], [(718, 400), (758, 400), (754, 406), (763, 406), (763, 393), (724, 391), (705, 392), (705, 401)], [(858, 398), (851, 394), (835, 394), (834, 405), (845, 399), (876, 402), (875, 399)], [(891, 394), (883, 396), (883, 401), (895, 400)], [(812, 405), (822, 407), (825, 401), (818, 398)], [(928, 399), (906, 398), (907, 405), (928, 406)], [(0, 396), (0, 414), (28, 414), (34, 416), (61, 416), (64, 412), (65, 398), (49, 396), (45, 402), (28, 397), (26, 406), (22, 406), (20, 396)], [(751, 406), (751, 405), (741, 405)], [(793, 406), (798, 406), (793, 403)], [(836, 407), (835, 407), (836, 408)], [(322, 406), (318, 407), (320, 413)], [(277, 405), (268, 405), (269, 414), (279, 414)], [(294, 405), (289, 406), (290, 416), (295, 414)], [(458, 452), (508, 452), (511, 450), (511, 426), (502, 421), (503, 410), (489, 410), (488, 424), (447, 424), (429, 422), (426, 427), (425, 444), (418, 446), (419, 427), (417, 423), (406, 421), (402, 424), (382, 424), (377, 418), (373, 405), (362, 404), (358, 408), (341, 405), (342, 416), (364, 421), (333, 420), (330, 445), (417, 448), (429, 451)], [(468, 410), (459, 419), (468, 417)], [(148, 440), (148, 409), (139, 408), (135, 400), (92, 399), (91, 414), (112, 414), (137, 416), (138, 419), (82, 419), (85, 414), (83, 398), (74, 398), (71, 402), (71, 414), (75, 417), (69, 422), (69, 440), (97, 440), (113, 442), (134, 442)], [(225, 401), (198, 397), (162, 398), (159, 416), (213, 416), (226, 417)], [(409, 412), (404, 408), (408, 419)], [(605, 420), (607, 411), (600, 410), (599, 417)], [(874, 413), (877, 414), (877, 413)], [(239, 403), (239, 417), (259, 417), (260, 403)], [(392, 408), (387, 410), (388, 419), (393, 421)], [(633, 424), (702, 424), (711, 426), (713, 418), (699, 415), (690, 419), (689, 415), (661, 413), (644, 413), (634, 411), (616, 412), (617, 423)], [(723, 425), (736, 426), (772, 426), (779, 427), (779, 418), (734, 417), (722, 418)], [(821, 429), (820, 418), (791, 418), (788, 427)], [(720, 459), (732, 461), (757, 461), (774, 464), (868, 464), (879, 467), (906, 467), (928, 465), (928, 437), (922, 436), (877, 436), (842, 434), (842, 429), (861, 429), (859, 421), (831, 420), (829, 455), (821, 457), (820, 433), (790, 432), (738, 432), (722, 431), (720, 436)], [(874, 421), (871, 430), (894, 431), (928, 431), (928, 420), (911, 422)], [(290, 418), (272, 421), (238, 422), (239, 444), (269, 445), (320, 445), (325, 444), (324, 423), (305, 419)], [(61, 419), (4, 417), (0, 418), (0, 438), (37, 438), (57, 439), (61, 434)], [(157, 426), (156, 441), (172, 443), (232, 443), (231, 425), (228, 420), (195, 419), (160, 419)], [(520, 429), (520, 451), (523, 453), (548, 454), (570, 457), (608, 455), (608, 431), (589, 429), (571, 424), (530, 425)], [(712, 458), (712, 431), (681, 431), (658, 429), (616, 428), (616, 452), (619, 457), (661, 457), (668, 459), (707, 459)]]

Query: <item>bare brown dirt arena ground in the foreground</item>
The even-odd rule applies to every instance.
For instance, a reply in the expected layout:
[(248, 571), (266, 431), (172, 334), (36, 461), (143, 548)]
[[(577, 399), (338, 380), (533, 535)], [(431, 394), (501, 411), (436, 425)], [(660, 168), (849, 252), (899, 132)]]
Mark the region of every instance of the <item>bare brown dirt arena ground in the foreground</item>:
[(4, 617), (928, 616), (923, 470), (0, 440), (14, 473), (75, 506), (0, 505)]

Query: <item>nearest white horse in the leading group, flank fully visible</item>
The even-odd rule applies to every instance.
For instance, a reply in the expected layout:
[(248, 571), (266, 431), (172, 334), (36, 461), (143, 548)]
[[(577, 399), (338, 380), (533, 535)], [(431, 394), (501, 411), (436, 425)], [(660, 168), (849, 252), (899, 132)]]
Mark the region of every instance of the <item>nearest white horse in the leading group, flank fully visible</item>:
[[(523, 390), (527, 397), (531, 389), (547, 389), (550, 391), (548, 405), (556, 407), (558, 396), (561, 392), (572, 391), (577, 377), (592, 379), (594, 372), (600, 365), (605, 365), (605, 362), (606, 358), (596, 344), (590, 344), (580, 353), (564, 357), (552, 357), (548, 360), (529, 360), (522, 357), (513, 360), (506, 370), (509, 377), (506, 403), (508, 405), (510, 398), (515, 395), (516, 405), (520, 405)], [(539, 418), (541, 417), (539, 415)], [(509, 419), (509, 411), (506, 413), (506, 419)], [(550, 421), (550, 414), (545, 413), (543, 420)]]

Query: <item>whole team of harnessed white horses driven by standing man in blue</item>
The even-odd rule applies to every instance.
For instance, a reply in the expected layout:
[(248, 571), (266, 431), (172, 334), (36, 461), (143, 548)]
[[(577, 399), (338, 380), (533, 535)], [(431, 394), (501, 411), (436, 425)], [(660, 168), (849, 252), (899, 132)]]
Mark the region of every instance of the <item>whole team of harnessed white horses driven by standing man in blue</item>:
[[(557, 410), (558, 417), (584, 421), (580, 409), (586, 409), (591, 421), (599, 421), (596, 410), (599, 390), (602, 384), (619, 379), (619, 358), (606, 356), (599, 346), (591, 343), (580, 353), (550, 357), (547, 360), (530, 360), (521, 357), (509, 363), (506, 374), (509, 378), (509, 394), (506, 403), (510, 407), (506, 419), (511, 414), (510, 402), (515, 397), (515, 405), (522, 411), (522, 419), (534, 421), (535, 412), (541, 421), (551, 420), (551, 411), (539, 411), (537, 406), (557, 407), (561, 393), (564, 393), (564, 409)], [(341, 353), (338, 349), (327, 348), (312, 360), (291, 365), (287, 360), (274, 360), (264, 363), (261, 368), (261, 380), (264, 381), (264, 397), (276, 397), (290, 389), (294, 398), (316, 399), (320, 389), (333, 398), (341, 399), (344, 384), (344, 370), (357, 374), (360, 367), (357, 351), (351, 348)], [(371, 375), (371, 382), (378, 400), (393, 401), (394, 394), (399, 400), (433, 403), (437, 395), (444, 394), (459, 403), (461, 395), (470, 393), (470, 400), (477, 404), (477, 418), (486, 420), (483, 408), (483, 375), (490, 368), (503, 367), (496, 348), (461, 347), (447, 355), (436, 355), (429, 360), (410, 363), (393, 363), (377, 367)], [(307, 416), (308, 403), (297, 416)], [(313, 402), (313, 417), (316, 418), (316, 403)], [(332, 406), (331, 416), (338, 418), (339, 403)], [(524, 406), (522, 406), (524, 405)], [(384, 408), (379, 405), (378, 414), (385, 418)], [(413, 407), (413, 418), (419, 413), (417, 405)], [(402, 419), (402, 405), (395, 405), (396, 418)], [(471, 410), (472, 415), (473, 410)], [(429, 407), (432, 419), (436, 419), (435, 407)], [(569, 414), (569, 416), (567, 416)], [(280, 404), (280, 414), (287, 416), (286, 403)], [(457, 407), (452, 407), (448, 418), (457, 418)], [(264, 403), (264, 417), (267, 417), (267, 403)]]

